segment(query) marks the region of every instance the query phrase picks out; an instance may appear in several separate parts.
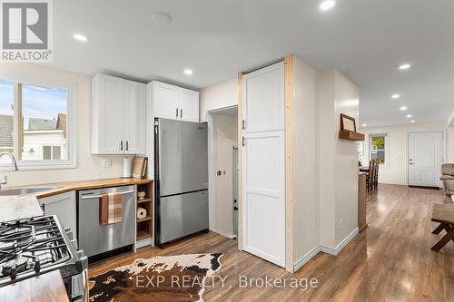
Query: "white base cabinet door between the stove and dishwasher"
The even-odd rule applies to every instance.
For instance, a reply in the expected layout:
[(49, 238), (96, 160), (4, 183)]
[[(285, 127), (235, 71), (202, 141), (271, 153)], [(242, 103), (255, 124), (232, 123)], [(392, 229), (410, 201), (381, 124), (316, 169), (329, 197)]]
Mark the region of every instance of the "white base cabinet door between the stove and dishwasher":
[(38, 201), (41, 208), (44, 209), (44, 215), (56, 215), (63, 227), (72, 229), (74, 239), (77, 238), (74, 191), (54, 195)]

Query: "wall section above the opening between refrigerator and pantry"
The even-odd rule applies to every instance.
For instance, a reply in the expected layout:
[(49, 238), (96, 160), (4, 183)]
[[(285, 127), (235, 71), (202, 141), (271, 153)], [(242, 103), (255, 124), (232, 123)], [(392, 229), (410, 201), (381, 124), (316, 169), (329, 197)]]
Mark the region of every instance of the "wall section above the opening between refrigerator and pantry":
[(206, 112), (238, 105), (238, 80), (236, 78), (203, 88), (200, 91), (200, 122), (206, 122)]

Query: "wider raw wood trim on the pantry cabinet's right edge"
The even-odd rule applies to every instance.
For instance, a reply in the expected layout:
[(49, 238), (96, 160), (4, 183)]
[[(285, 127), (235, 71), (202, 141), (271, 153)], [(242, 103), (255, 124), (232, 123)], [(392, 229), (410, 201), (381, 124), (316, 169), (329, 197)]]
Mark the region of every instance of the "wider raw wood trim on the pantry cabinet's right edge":
[(284, 59), (285, 81), (285, 269), (293, 273), (293, 54)]

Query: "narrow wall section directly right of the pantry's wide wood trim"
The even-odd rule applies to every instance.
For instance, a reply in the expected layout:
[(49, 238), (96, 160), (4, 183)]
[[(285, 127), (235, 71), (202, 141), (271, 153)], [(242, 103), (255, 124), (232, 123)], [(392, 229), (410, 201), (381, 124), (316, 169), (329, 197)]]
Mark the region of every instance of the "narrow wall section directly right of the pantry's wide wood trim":
[(319, 247), (318, 140), (316, 105), (318, 72), (294, 57), (293, 223), (294, 261)]

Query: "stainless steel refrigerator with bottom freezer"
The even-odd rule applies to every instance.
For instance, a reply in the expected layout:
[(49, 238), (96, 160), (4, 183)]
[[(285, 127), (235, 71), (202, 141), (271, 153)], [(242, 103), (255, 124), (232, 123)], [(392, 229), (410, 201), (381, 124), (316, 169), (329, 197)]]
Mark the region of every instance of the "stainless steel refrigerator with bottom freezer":
[(208, 230), (207, 124), (154, 120), (155, 245)]

